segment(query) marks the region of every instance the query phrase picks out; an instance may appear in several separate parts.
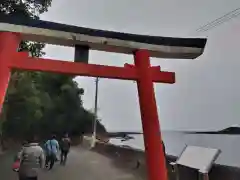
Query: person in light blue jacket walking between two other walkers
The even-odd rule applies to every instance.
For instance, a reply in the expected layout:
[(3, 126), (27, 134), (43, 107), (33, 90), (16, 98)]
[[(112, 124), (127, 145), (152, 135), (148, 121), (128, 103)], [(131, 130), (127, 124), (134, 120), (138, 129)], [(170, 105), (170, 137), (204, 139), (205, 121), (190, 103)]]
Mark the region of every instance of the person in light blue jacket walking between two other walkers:
[(51, 139), (49, 139), (45, 143), (45, 149), (46, 149), (45, 167), (46, 168), (49, 167), (49, 170), (51, 170), (55, 164), (55, 161), (57, 160), (57, 154), (59, 152), (59, 143), (56, 140), (56, 135), (52, 135)]

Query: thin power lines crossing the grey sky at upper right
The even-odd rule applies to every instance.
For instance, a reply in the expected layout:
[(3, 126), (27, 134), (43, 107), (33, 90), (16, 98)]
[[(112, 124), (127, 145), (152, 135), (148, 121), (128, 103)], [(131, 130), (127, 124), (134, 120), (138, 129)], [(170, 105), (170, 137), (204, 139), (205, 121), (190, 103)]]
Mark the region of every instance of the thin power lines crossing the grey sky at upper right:
[(197, 32), (197, 33), (206, 32), (206, 31), (213, 29), (233, 18), (236, 18), (239, 15), (240, 15), (240, 8), (236, 8), (236, 9), (224, 14), (223, 16), (221, 16), (213, 21), (210, 21), (209, 23), (197, 28), (195, 30), (195, 32)]

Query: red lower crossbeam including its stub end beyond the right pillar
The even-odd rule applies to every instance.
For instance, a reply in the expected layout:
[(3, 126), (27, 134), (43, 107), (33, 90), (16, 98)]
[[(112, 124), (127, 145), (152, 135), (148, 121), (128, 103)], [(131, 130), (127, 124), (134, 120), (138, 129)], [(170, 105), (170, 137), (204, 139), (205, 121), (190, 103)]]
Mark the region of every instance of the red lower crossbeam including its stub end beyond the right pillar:
[[(60, 60), (28, 57), (28, 53), (17, 53), (10, 66), (15, 69), (30, 71), (47, 71), (69, 75), (92, 76), (111, 79), (137, 80), (137, 70), (134, 65), (124, 67), (104, 66), (86, 63), (73, 63)], [(175, 74), (159, 71), (159, 67), (152, 67), (153, 81), (162, 83), (174, 83)]]

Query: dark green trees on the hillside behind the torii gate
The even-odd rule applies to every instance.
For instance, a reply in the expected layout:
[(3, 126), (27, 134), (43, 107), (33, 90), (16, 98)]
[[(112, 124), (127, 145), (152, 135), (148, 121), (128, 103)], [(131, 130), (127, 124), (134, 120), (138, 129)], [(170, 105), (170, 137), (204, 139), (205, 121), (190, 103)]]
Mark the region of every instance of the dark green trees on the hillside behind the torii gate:
[[(51, 0), (2, 0), (0, 15), (35, 18), (47, 11)], [(44, 44), (21, 42), (20, 51), (40, 57)], [(79, 135), (91, 131), (93, 113), (83, 108), (79, 88), (74, 77), (43, 72), (12, 72), (3, 113), (0, 119), (5, 136), (23, 139), (26, 136), (49, 136), (68, 132)], [(105, 128), (98, 123), (98, 130)]]

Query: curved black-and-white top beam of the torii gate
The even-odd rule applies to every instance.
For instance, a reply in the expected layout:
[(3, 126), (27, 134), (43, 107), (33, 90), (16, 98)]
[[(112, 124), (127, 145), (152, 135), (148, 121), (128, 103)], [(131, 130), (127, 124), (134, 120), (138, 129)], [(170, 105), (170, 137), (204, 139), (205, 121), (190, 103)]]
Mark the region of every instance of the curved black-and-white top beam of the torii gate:
[(10, 16), (0, 17), (0, 31), (21, 33), (25, 40), (86, 45), (108, 52), (132, 54), (137, 49), (146, 49), (151, 57), (159, 58), (194, 59), (203, 53), (206, 44), (206, 39), (127, 34)]

